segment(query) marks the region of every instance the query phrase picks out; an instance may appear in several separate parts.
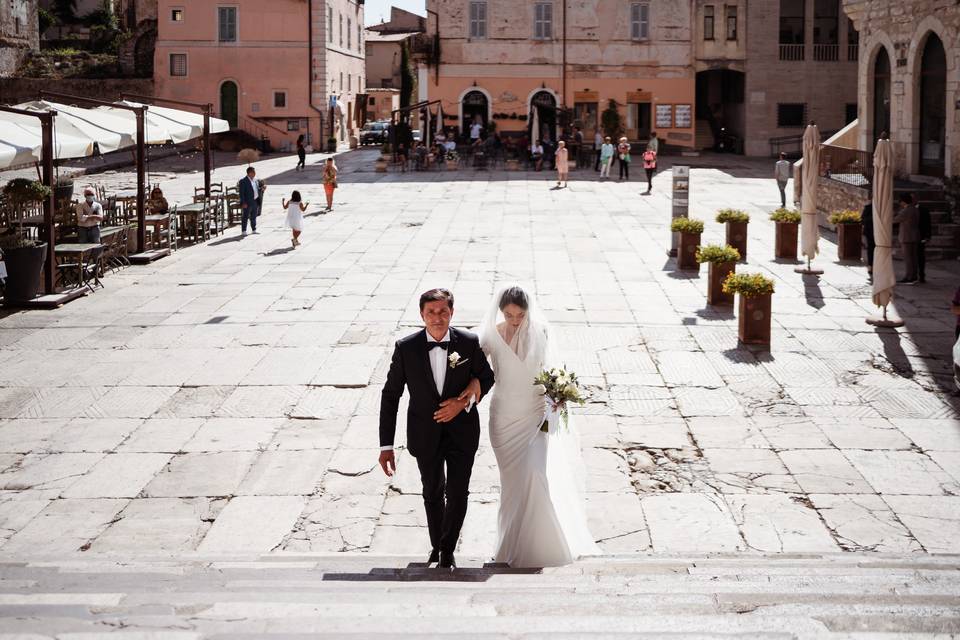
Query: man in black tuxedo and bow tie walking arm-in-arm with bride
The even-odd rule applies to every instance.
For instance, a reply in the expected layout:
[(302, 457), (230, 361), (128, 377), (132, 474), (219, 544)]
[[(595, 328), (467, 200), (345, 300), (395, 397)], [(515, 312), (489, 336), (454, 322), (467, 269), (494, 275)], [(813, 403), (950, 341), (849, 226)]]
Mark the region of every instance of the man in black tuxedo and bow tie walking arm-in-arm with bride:
[(388, 476), (396, 471), (393, 438), (406, 386), (410, 391), (407, 448), (420, 468), (433, 546), (427, 562), (452, 569), (480, 444), (476, 404), (493, 387), (493, 371), (477, 336), (450, 327), (452, 293), (431, 289), (421, 295), (420, 316), (425, 328), (397, 342), (383, 385), (380, 467)]

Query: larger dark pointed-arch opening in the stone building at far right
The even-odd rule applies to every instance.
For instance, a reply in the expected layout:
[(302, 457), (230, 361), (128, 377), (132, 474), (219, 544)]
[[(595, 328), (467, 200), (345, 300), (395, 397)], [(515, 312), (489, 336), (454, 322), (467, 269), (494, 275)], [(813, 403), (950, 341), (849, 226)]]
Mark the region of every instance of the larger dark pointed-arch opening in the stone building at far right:
[(947, 56), (936, 34), (920, 59), (920, 173), (942, 176), (947, 118)]

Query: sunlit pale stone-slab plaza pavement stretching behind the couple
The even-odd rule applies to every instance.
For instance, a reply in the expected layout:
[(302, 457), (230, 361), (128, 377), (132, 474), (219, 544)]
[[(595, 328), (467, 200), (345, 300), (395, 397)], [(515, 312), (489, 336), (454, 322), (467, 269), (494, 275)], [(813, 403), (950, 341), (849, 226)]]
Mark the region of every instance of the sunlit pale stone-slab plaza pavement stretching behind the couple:
[[(669, 171), (642, 197), (592, 173), (563, 190), (549, 174), (375, 174), (374, 156), (341, 156), (327, 215), (320, 156), (299, 174), (264, 160), (258, 235), (0, 319), (0, 556), (420, 553), (413, 460), (393, 482), (376, 466), (390, 350), (421, 290), (451, 288), (470, 327), (504, 280), (536, 291), (590, 386), (575, 413), (605, 552), (960, 551), (956, 262), (898, 289), (903, 329), (874, 329), (864, 267), (832, 242), (819, 279), (772, 259), (769, 162), (694, 169), (704, 240), (722, 238), (713, 211), (747, 209), (739, 270), (776, 279), (772, 350), (743, 348), (735, 315), (705, 304), (705, 270), (666, 257)], [(171, 201), (201, 181), (155, 168)], [(296, 250), (279, 203), (293, 188), (312, 201)], [(461, 542), (475, 558), (495, 541), (483, 440)]]

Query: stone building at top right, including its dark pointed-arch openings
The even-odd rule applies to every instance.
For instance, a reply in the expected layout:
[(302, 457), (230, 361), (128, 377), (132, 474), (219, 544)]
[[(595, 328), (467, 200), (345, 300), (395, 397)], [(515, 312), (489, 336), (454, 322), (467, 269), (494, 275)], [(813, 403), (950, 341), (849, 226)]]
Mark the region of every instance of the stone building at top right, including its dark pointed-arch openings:
[(843, 5), (860, 32), (859, 147), (872, 151), (887, 131), (898, 174), (956, 175), (960, 7), (952, 0)]

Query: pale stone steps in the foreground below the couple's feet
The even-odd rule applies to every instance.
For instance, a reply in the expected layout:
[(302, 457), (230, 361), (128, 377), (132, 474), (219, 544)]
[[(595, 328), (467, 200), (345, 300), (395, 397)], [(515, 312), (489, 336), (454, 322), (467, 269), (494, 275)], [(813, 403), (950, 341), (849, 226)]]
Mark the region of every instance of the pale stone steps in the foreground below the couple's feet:
[[(960, 556), (0, 558), (0, 638), (926, 638), (960, 632)], [(23, 635), (16, 635), (23, 634)]]

